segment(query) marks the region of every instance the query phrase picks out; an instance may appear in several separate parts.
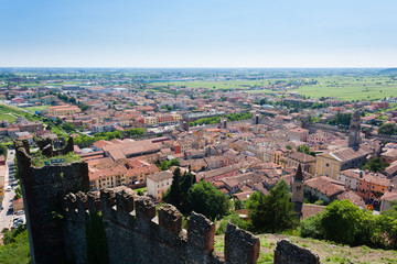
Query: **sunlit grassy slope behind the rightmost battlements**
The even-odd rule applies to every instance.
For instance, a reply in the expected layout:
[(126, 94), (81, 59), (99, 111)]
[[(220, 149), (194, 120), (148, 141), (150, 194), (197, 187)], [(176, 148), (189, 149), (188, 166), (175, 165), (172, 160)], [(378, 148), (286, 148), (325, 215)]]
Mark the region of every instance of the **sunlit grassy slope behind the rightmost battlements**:
[[(321, 263), (397, 263), (397, 251), (373, 250), (368, 246), (343, 246), (314, 239), (302, 239), (283, 234), (259, 234), (260, 254), (258, 264), (270, 264), (277, 241), (288, 239), (299, 246), (307, 248), (320, 256)], [(223, 253), (224, 235), (215, 237), (215, 250)]]

